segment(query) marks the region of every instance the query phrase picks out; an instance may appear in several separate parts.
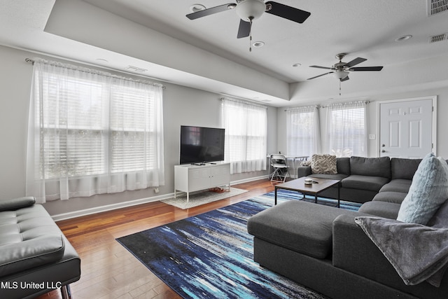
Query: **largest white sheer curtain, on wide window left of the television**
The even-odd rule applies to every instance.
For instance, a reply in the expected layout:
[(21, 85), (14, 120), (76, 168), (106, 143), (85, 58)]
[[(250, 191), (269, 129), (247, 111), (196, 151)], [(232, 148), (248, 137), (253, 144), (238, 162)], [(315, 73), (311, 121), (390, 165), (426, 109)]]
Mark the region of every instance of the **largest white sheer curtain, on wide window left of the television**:
[(162, 85), (34, 62), (27, 195), (45, 202), (164, 184)]

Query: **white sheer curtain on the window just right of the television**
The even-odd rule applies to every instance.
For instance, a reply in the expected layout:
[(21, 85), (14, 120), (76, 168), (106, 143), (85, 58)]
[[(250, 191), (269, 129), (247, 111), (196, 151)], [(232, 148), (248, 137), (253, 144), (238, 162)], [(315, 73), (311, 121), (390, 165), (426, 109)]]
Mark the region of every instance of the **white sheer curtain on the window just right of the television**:
[(230, 162), (230, 173), (265, 170), (267, 107), (227, 98), (222, 101), (225, 162)]

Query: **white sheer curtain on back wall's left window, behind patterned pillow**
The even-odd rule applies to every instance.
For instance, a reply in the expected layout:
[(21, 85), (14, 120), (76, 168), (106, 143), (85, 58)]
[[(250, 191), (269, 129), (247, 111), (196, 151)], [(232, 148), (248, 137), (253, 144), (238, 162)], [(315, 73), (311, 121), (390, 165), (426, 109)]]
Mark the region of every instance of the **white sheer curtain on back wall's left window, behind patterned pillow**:
[(321, 132), (318, 106), (286, 110), (287, 155), (309, 156), (321, 153)]

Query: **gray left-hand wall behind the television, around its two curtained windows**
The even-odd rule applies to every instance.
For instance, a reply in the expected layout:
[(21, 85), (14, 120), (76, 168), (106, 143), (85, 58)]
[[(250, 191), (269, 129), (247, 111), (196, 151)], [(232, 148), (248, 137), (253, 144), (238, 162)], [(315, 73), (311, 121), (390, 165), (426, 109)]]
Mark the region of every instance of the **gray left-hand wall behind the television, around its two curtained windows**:
[[(22, 50), (0, 46), (0, 200), (25, 196), (25, 162), (27, 146), (28, 104), (31, 83), (31, 64), (27, 57), (35, 55)], [(45, 59), (54, 60), (51, 57)], [(71, 62), (73, 63), (73, 62)], [(52, 215), (83, 209), (96, 209), (123, 202), (148, 199), (158, 200), (174, 192), (174, 165), (179, 164), (179, 132), (181, 125), (220, 127), (221, 95), (163, 83), (165, 134), (165, 186), (155, 194), (153, 188), (127, 191), (111, 195), (73, 198), (44, 204)], [(268, 151), (276, 151), (276, 108), (268, 109)], [(267, 172), (234, 174), (231, 181), (250, 180), (267, 176)], [(166, 197), (166, 196), (165, 196)]]

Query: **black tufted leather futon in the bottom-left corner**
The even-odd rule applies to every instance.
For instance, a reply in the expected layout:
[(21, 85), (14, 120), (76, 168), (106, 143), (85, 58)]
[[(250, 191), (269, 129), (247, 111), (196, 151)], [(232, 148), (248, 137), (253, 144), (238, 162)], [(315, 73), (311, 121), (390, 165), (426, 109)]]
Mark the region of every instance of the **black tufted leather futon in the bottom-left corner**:
[(0, 298), (34, 298), (80, 279), (76, 250), (34, 197), (0, 200)]

